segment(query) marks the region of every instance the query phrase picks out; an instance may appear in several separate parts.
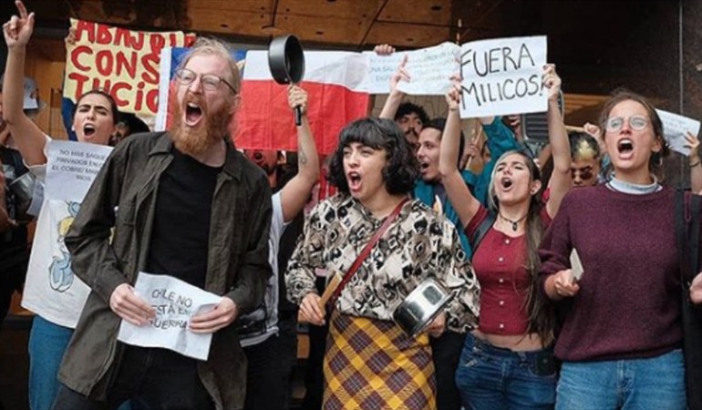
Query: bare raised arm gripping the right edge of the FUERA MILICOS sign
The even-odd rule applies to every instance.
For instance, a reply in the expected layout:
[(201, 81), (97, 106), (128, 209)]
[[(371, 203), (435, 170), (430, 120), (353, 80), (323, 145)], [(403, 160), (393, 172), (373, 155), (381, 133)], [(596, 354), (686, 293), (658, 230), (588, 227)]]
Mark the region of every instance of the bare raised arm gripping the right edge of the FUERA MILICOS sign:
[(553, 173), (549, 180), (551, 190), (546, 203), (546, 211), (551, 218), (556, 216), (561, 200), (573, 184), (571, 179), (571, 144), (568, 131), (563, 124), (558, 99), (561, 94), (561, 77), (556, 74), (555, 66), (547, 64), (543, 70), (543, 85), (548, 90), (549, 105), (547, 118), (549, 124), (549, 145), (553, 157)]

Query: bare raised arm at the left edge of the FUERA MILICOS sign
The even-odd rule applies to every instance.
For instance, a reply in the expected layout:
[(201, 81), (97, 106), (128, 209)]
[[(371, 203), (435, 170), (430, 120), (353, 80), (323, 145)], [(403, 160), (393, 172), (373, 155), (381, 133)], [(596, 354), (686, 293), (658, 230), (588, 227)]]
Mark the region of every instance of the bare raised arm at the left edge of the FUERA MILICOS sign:
[(454, 80), (454, 85), (446, 96), (449, 114), (446, 118), (444, 134), (441, 136), (439, 173), (441, 174), (441, 183), (449, 196), (449, 201), (459, 215), (462, 226), (465, 228), (480, 210), (480, 202), (470, 193), (468, 186), (460, 176), (459, 169), (456, 167), (460, 155), (459, 100), (460, 83)]

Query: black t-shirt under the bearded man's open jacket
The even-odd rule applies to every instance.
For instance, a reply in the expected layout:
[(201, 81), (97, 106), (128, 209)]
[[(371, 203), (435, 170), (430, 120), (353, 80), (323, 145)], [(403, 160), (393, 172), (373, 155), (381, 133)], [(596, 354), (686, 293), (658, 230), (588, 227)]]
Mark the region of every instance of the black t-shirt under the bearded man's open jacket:
[(147, 272), (205, 286), (212, 197), (222, 168), (172, 149), (160, 177)]

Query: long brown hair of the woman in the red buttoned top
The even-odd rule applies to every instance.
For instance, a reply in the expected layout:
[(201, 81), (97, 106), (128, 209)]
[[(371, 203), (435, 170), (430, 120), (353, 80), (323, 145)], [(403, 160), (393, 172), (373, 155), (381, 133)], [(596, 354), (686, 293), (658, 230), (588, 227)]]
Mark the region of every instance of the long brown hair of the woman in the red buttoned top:
[[(501, 157), (495, 162), (496, 166), (492, 169), (492, 176), (490, 178), (490, 188), (489, 188), (489, 207), (492, 212), (500, 212), (500, 202), (495, 195), (495, 174), (497, 173), (497, 164), (500, 164), (502, 160), (507, 158), (512, 154), (518, 154), (526, 163), (529, 173), (531, 175), (530, 183), (535, 180), (541, 180), (541, 171), (536, 163), (528, 155), (521, 151), (508, 151), (501, 155)], [(553, 331), (555, 329), (555, 313), (553, 311), (552, 303), (549, 302), (542, 292), (540, 292), (540, 282), (539, 282), (539, 269), (541, 268), (541, 259), (539, 258), (539, 245), (542, 242), (543, 236), (543, 224), (542, 224), (542, 190), (539, 190), (532, 195), (529, 200), (529, 210), (527, 211), (527, 218), (525, 224), (526, 231), (526, 266), (524, 267), (530, 275), (530, 286), (527, 291), (527, 299), (525, 302), (525, 308), (527, 315), (529, 317), (529, 324), (527, 326), (527, 333), (537, 333), (541, 338), (542, 342), (548, 341), (553, 337)]]

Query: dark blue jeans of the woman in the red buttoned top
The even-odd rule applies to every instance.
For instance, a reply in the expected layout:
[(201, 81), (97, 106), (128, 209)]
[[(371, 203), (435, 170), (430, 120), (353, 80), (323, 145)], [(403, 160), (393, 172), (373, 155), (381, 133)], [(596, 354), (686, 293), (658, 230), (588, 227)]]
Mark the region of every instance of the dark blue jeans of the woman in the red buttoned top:
[[(544, 371), (539, 360), (552, 360), (552, 348), (512, 352), (466, 336), (456, 371), (463, 405), (482, 409), (551, 409), (557, 372)], [(551, 373), (551, 374), (542, 374)]]

